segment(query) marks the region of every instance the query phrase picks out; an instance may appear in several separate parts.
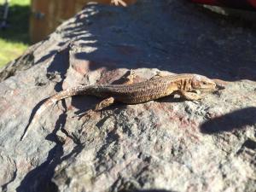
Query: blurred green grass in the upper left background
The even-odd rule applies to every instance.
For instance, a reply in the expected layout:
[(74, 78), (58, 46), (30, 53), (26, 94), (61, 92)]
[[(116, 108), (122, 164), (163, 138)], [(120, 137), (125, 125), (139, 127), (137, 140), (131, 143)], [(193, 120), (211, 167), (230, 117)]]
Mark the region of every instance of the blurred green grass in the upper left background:
[[(3, 5), (3, 0), (0, 0)], [(30, 44), (30, 0), (10, 0), (7, 29), (0, 29), (0, 67), (20, 56)], [(0, 15), (2, 19), (2, 15)]]

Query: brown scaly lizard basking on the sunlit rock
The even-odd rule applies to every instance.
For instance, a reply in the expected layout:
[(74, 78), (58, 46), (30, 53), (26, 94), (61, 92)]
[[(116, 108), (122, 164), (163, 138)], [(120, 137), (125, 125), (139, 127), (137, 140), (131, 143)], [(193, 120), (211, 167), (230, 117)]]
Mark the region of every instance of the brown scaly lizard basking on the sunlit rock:
[(159, 73), (151, 79), (138, 83), (133, 83), (134, 76), (131, 70), (128, 81), (125, 84), (78, 85), (67, 90), (61, 90), (54, 96), (50, 96), (38, 108), (31, 123), (26, 125), (20, 141), (26, 137), (29, 128), (32, 127), (45, 109), (70, 96), (89, 95), (103, 98), (102, 102), (97, 104), (94, 109), (95, 111), (100, 111), (114, 102), (137, 104), (175, 94), (190, 101), (200, 100), (203, 97), (201, 91), (213, 91), (216, 88), (216, 84), (212, 79), (194, 73), (176, 75), (163, 75)]

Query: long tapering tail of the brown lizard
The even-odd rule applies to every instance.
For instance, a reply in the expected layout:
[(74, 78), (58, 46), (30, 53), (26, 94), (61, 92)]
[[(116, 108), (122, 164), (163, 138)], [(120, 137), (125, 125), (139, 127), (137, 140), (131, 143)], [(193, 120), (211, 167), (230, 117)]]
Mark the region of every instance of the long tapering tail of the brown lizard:
[(23, 135), (20, 137), (20, 141), (23, 141), (24, 138), (26, 137), (28, 131), (30, 131), (32, 125), (34, 125), (38, 118), (41, 116), (44, 111), (49, 108), (49, 106), (54, 105), (56, 102), (60, 101), (61, 99), (65, 99), (70, 96), (79, 96), (79, 95), (86, 95), (86, 92), (90, 90), (90, 88), (93, 88), (93, 86), (86, 86), (86, 85), (81, 85), (78, 87), (73, 87), (67, 90), (61, 90), (60, 92), (56, 93), (54, 96), (50, 96), (34, 113), (34, 115), (31, 115), (31, 118), (26, 125), (26, 128), (24, 130)]

